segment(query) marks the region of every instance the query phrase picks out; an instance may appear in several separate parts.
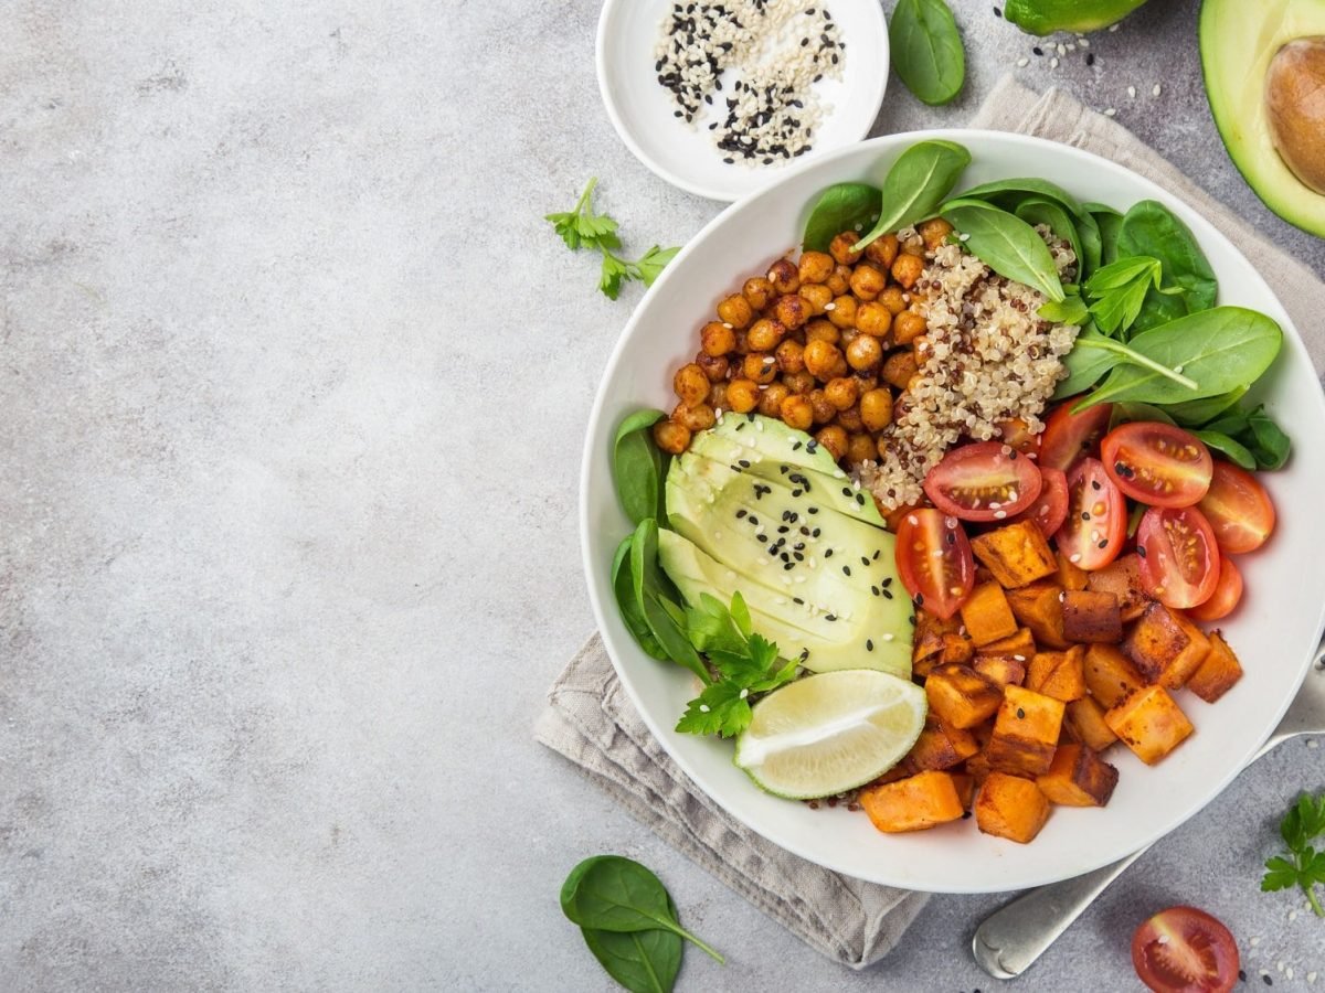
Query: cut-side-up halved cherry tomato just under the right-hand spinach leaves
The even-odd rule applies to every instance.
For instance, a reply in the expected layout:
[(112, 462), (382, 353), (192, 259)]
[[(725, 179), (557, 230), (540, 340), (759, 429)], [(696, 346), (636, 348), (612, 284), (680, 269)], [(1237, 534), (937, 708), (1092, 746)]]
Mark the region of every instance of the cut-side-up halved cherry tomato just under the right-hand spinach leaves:
[(1210, 489), (1210, 449), (1182, 428), (1120, 424), (1100, 442), (1100, 461), (1128, 496), (1151, 507), (1190, 507)]

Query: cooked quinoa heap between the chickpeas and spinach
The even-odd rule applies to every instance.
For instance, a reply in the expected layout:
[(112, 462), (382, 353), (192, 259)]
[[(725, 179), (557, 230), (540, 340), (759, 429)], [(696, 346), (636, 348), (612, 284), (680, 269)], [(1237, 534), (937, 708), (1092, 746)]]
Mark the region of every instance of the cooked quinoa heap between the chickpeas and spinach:
[[(1072, 275), (1068, 244), (1045, 225), (1036, 232), (1059, 271)], [(913, 229), (898, 233), (904, 244), (917, 237)], [(1045, 302), (1039, 291), (996, 275), (959, 244), (925, 258), (912, 291), (929, 322), (916, 348), (920, 368), (882, 432), (878, 461), (856, 466), (861, 485), (889, 510), (917, 503), (925, 474), (959, 440), (1002, 437), (1002, 422), (1014, 417), (1041, 430), (1040, 412), (1067, 376), (1061, 359), (1080, 330), (1036, 318)]]

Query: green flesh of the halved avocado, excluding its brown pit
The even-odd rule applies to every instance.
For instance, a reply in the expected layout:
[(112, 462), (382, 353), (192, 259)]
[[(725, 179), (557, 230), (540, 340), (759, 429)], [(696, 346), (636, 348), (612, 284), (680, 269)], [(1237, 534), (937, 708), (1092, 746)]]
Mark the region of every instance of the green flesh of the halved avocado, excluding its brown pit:
[[(1325, 195), (1312, 189), (1293, 172), (1276, 146), (1276, 126), (1269, 105), (1283, 91), (1285, 79), (1301, 69), (1275, 65), (1291, 42), (1325, 36), (1325, 0), (1204, 0), (1200, 7), (1200, 65), (1206, 95), (1219, 135), (1248, 185), (1265, 207), (1289, 224), (1325, 237)], [(1320, 44), (1325, 45), (1325, 41)], [(1298, 64), (1301, 65), (1301, 64)], [(1268, 87), (1271, 73), (1277, 77)], [(1301, 93), (1320, 91), (1313, 83)], [(1318, 115), (1325, 111), (1317, 110)], [(1283, 113), (1275, 115), (1280, 123)], [(1325, 155), (1322, 117), (1316, 127), (1285, 135), (1280, 142), (1304, 143), (1304, 158)], [(1285, 150), (1289, 159), (1293, 150)]]

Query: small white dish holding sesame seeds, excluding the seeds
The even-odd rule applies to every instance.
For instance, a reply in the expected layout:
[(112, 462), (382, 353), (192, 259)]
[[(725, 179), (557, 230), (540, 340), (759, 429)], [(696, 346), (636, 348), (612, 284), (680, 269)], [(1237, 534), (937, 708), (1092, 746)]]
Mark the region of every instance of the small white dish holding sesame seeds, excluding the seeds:
[[(635, 158), (674, 187), (709, 197), (737, 200), (776, 181), (788, 167), (726, 164), (710, 139), (712, 118), (686, 124), (657, 83), (653, 49), (664, 13), (674, 0), (607, 0), (598, 21), (598, 89), (616, 134)], [(847, 42), (841, 79), (822, 79), (815, 93), (825, 114), (815, 130), (814, 150), (798, 164), (859, 142), (869, 134), (888, 85), (888, 25), (878, 0), (832, 5)], [(716, 110), (713, 111), (716, 114)]]

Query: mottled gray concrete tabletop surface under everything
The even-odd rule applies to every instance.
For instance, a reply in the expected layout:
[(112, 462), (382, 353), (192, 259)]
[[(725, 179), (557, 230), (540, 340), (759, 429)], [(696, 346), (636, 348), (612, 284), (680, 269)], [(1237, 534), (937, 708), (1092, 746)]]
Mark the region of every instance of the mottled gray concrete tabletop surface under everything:
[[(965, 97), (894, 83), (876, 131), (962, 123), (1028, 53), (957, 7)], [(847, 973), (530, 739), (591, 628), (579, 444), (639, 299), (542, 214), (591, 173), (632, 249), (717, 209), (617, 142), (596, 15), (0, 0), (0, 989), (607, 989), (556, 907), (598, 851), (729, 953), (682, 989), (995, 986), (966, 948), (999, 898), (938, 898)], [(1116, 106), (1325, 274), (1228, 164), (1195, 16), (1155, 0), (1093, 69), (1020, 74)], [(1325, 924), (1257, 878), (1320, 755), (1243, 776), (1018, 988), (1130, 989), (1136, 923), (1191, 902), (1252, 982), (1305, 989)]]

